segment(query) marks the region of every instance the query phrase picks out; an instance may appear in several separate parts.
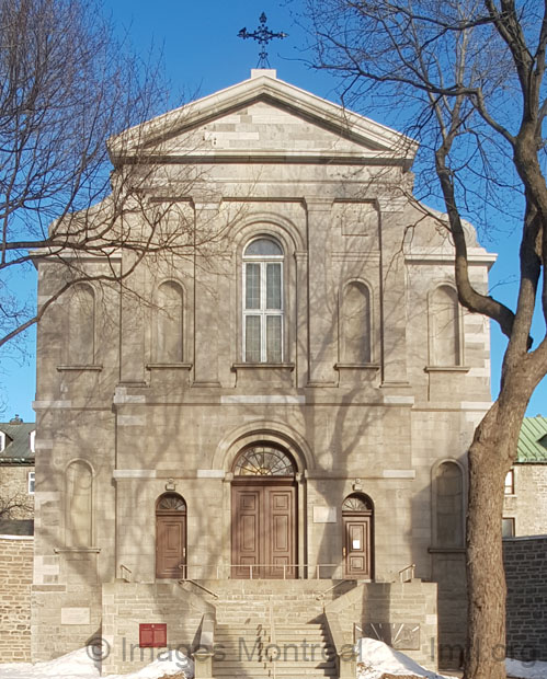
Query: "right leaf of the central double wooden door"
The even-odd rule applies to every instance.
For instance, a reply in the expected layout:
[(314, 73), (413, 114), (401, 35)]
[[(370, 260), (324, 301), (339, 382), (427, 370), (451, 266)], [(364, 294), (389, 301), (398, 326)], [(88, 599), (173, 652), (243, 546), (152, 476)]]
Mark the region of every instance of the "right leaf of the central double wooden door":
[[(269, 578), (296, 577), (296, 502), (293, 486), (264, 487), (266, 516), (264, 559)], [(277, 567), (278, 566), (278, 567)], [(283, 568), (285, 566), (285, 568)], [(284, 573), (285, 572), (285, 573)]]

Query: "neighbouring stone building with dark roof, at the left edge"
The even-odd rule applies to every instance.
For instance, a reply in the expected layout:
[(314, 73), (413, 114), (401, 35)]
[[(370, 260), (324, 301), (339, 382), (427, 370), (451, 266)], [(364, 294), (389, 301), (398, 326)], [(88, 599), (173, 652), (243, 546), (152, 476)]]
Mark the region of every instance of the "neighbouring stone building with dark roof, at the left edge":
[(0, 423), (0, 534), (33, 534), (34, 438), (19, 415)]

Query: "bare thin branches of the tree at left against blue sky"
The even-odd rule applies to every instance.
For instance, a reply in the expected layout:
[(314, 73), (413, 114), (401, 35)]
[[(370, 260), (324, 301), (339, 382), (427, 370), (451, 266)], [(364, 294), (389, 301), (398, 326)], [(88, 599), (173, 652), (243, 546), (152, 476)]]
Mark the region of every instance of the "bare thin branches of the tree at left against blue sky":
[[(180, 219), (178, 238), (166, 228), (176, 206), (150, 204), (150, 161), (124, 164), (118, 135), (166, 105), (162, 82), (156, 59), (115, 38), (100, 0), (0, 0), (0, 347), (75, 284), (119, 285), (146, 254), (195, 245), (192, 223)], [(127, 251), (122, 272), (112, 257)], [(36, 257), (66, 267), (37, 311), (19, 291)], [(90, 257), (112, 265), (93, 275)]]

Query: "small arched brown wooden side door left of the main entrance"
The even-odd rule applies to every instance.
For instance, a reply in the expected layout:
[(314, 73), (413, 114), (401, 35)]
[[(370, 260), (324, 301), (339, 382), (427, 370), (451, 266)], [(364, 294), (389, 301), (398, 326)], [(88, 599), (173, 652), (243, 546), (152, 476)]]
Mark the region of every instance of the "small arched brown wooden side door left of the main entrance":
[(186, 503), (178, 493), (156, 503), (156, 577), (186, 577)]

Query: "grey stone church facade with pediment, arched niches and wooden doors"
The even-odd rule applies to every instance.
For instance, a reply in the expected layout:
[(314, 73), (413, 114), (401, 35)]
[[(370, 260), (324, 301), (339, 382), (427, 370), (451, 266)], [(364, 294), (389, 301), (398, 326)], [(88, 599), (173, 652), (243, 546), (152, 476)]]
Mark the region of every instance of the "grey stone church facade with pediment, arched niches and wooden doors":
[[(123, 288), (93, 276), (133, 255), (90, 257), (41, 323), (35, 659), (166, 620), (186, 643), (232, 582), (371, 601), (436, 582), (441, 640), (460, 638), (489, 331), (458, 307), (442, 216), (410, 199), (415, 150), (271, 70), (111, 140), (115, 191), (146, 169), (162, 233), (204, 244), (150, 253)], [(493, 257), (467, 237), (486, 291)], [(38, 268), (44, 301), (66, 272)], [(413, 622), (394, 601), (367, 621)], [(422, 612), (417, 657), (436, 640)]]

